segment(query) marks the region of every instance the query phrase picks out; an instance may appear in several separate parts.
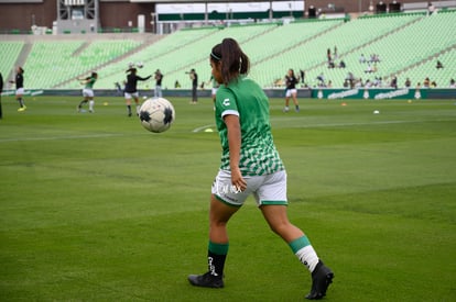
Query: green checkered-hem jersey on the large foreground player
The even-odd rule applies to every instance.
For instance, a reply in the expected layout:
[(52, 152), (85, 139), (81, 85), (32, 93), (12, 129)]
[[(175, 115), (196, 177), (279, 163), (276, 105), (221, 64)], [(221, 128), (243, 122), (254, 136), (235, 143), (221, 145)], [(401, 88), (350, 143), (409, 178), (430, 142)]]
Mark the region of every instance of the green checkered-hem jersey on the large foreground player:
[(269, 99), (261, 87), (247, 77), (221, 85), (216, 96), (216, 124), (221, 142), (220, 169), (230, 170), (227, 126), (224, 115), (239, 116), (241, 149), (239, 168), (243, 176), (262, 176), (284, 169), (275, 149), (269, 122)]

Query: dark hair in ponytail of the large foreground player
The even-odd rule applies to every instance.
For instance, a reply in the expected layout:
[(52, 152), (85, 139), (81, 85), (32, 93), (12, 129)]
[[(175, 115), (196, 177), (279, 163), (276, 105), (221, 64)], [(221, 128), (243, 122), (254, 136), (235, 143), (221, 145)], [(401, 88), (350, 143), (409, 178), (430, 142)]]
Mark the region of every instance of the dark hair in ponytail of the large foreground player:
[(227, 37), (210, 52), (213, 61), (221, 61), (221, 77), (228, 85), (240, 75), (247, 75), (250, 69), (249, 57), (242, 52), (236, 40)]

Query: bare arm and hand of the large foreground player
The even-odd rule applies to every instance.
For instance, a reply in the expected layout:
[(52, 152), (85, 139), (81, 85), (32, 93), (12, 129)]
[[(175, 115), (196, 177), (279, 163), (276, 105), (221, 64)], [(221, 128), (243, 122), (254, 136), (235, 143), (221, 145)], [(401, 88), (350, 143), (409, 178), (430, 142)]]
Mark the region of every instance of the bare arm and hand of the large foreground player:
[(228, 146), (229, 146), (229, 165), (231, 169), (231, 184), (237, 189), (243, 191), (247, 188), (247, 182), (242, 178), (239, 169), (240, 147), (241, 147), (241, 130), (239, 116), (235, 114), (227, 114), (224, 116), (227, 126)]

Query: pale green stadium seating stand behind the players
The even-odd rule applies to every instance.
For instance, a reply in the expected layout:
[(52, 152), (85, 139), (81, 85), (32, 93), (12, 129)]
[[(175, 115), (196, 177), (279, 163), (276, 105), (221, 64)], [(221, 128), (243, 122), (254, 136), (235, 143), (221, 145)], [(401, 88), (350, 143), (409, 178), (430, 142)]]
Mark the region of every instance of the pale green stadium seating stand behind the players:
[[(447, 87), (456, 70), (456, 10), (442, 10), (427, 15), (424, 12), (391, 13), (361, 16), (355, 20), (305, 20), (291, 23), (257, 23), (235, 26), (210, 26), (180, 30), (173, 34), (148, 38), (150, 34), (135, 34), (112, 40), (109, 35), (80, 35), (73, 40), (33, 42), (0, 42), (0, 68), (3, 75), (24, 63), (28, 89), (79, 89), (76, 77), (97, 70), (96, 89), (113, 89), (122, 82), (130, 63), (143, 63), (140, 76), (161, 69), (163, 87), (174, 88), (175, 81), (189, 89), (185, 72), (195, 68), (199, 81), (208, 81), (210, 47), (224, 37), (238, 40), (251, 58), (251, 76), (264, 88), (276, 87), (289, 68), (305, 70), (306, 86), (318, 85), (324, 74), (333, 87), (343, 87), (348, 72), (362, 81), (382, 78), (383, 85), (393, 76), (399, 86), (410, 78), (412, 86), (425, 77), (438, 87)], [(139, 36), (139, 38), (138, 38)], [(30, 53), (24, 45), (31, 44)], [(337, 57), (334, 48), (337, 47)], [(327, 49), (330, 49), (335, 68), (328, 68)], [(369, 59), (379, 56), (376, 72), (366, 72)], [(25, 56), (25, 57), (21, 57)], [(345, 68), (338, 68), (340, 60)], [(441, 60), (444, 68), (435, 68)], [(372, 63), (373, 66), (373, 63)], [(33, 75), (31, 77), (30, 75)], [(153, 81), (140, 83), (152, 89)]]

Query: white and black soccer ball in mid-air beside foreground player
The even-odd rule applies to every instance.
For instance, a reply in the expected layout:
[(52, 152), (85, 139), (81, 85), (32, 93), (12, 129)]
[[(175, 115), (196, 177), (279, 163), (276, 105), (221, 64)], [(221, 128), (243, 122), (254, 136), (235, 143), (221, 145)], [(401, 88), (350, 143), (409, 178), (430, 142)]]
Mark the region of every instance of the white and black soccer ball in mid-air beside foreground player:
[(145, 100), (140, 108), (141, 125), (150, 132), (165, 132), (175, 119), (173, 104), (164, 98)]

